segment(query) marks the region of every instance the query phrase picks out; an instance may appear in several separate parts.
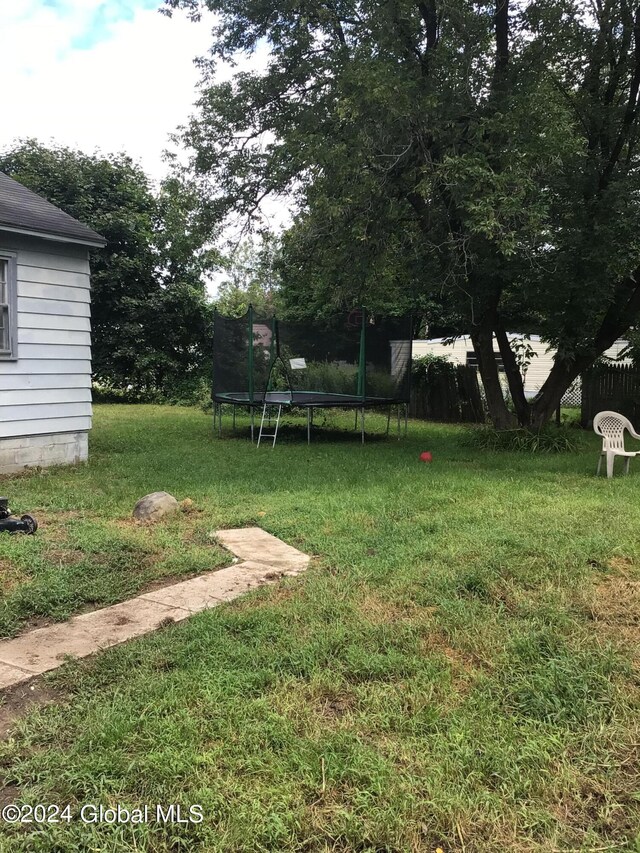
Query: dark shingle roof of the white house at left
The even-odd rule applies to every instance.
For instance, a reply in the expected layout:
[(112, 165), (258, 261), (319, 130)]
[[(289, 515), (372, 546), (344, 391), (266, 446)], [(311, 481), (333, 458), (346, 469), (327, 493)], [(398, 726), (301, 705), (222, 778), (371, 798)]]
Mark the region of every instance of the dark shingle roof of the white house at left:
[(0, 172), (0, 230), (41, 234), (85, 246), (104, 246), (100, 234)]

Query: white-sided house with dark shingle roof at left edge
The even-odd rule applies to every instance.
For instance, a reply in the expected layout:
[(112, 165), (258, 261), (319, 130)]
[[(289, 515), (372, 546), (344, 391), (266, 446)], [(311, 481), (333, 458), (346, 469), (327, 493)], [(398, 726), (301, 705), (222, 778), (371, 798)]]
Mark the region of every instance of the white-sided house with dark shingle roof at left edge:
[(0, 172), (0, 473), (85, 460), (95, 231)]

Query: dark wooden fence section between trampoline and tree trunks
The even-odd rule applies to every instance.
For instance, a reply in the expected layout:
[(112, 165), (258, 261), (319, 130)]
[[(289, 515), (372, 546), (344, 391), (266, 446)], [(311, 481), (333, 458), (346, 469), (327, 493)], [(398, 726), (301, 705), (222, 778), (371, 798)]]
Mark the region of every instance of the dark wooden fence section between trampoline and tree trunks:
[(409, 415), (430, 421), (484, 423), (484, 408), (475, 367), (430, 365), (412, 379)]

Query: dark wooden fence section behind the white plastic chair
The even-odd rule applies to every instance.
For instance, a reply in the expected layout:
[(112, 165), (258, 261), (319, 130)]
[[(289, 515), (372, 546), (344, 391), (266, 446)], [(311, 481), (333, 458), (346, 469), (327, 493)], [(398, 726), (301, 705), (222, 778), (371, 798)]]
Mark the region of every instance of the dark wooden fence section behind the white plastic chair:
[(630, 364), (594, 367), (582, 375), (581, 422), (591, 427), (598, 412), (626, 415), (640, 426), (640, 370)]

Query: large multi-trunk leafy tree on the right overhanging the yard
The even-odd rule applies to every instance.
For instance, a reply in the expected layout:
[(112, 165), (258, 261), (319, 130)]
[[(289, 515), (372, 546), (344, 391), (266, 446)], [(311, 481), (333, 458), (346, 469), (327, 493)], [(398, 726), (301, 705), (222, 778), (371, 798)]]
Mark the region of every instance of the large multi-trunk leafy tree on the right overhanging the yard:
[[(497, 426), (514, 417), (494, 339), (517, 419), (538, 425), (636, 321), (638, 7), (166, 2), (218, 16), (183, 134), (212, 214), (288, 191), (310, 284), (332, 276), (340, 298), (379, 304), (388, 284), (398, 304), (412, 279), (415, 304), (441, 301), (471, 335)], [(266, 67), (216, 82), (219, 61), (264, 47)], [(531, 402), (507, 330), (557, 348)]]

